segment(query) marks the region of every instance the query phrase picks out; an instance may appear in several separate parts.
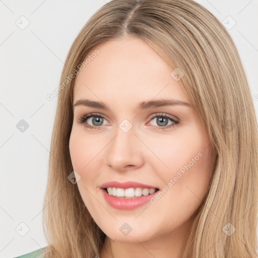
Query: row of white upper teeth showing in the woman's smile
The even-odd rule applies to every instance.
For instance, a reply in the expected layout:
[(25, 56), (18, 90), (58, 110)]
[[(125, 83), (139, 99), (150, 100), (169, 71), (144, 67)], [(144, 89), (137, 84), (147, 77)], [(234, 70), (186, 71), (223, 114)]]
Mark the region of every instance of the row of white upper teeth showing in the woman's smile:
[(107, 192), (110, 196), (116, 197), (140, 197), (140, 196), (148, 196), (155, 192), (155, 188), (115, 188), (115, 187), (107, 187)]

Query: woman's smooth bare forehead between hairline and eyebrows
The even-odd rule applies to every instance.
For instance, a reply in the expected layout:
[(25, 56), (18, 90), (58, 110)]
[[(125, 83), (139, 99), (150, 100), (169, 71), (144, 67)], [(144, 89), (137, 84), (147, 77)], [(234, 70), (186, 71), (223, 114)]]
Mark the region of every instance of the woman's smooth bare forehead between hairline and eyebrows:
[(86, 58), (76, 76), (74, 102), (84, 97), (132, 105), (155, 98), (188, 101), (180, 81), (170, 75), (174, 68), (140, 38), (109, 40), (93, 47)]

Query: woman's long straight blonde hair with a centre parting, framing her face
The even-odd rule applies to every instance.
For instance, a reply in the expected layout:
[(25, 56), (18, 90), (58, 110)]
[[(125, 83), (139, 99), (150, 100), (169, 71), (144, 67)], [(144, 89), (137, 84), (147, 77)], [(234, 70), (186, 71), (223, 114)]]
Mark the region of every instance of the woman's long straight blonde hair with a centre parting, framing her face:
[(105, 234), (77, 185), (68, 180), (73, 171), (69, 139), (75, 78), (66, 80), (98, 43), (127, 35), (142, 38), (170, 66), (183, 71), (182, 87), (216, 153), (212, 179), (182, 257), (257, 257), (258, 135), (252, 96), (229, 33), (192, 0), (113, 0), (75, 39), (62, 70), (51, 139), (43, 210), (49, 243), (45, 257), (92, 258), (103, 248)]

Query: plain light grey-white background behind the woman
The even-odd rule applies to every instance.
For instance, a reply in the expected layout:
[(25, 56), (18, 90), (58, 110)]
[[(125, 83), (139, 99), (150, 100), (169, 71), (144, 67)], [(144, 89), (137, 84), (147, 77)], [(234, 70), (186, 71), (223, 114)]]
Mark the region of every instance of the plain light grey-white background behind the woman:
[[(233, 25), (228, 16), (235, 20), (229, 32), (239, 50), (257, 110), (257, 0), (198, 2), (225, 26)], [(77, 34), (104, 4), (103, 0), (0, 0), (2, 258), (47, 245), (41, 211), (57, 97), (49, 101), (46, 96), (58, 87), (63, 62)], [(26, 20), (29, 25), (21, 29)], [(29, 124), (23, 133), (16, 127), (21, 119)], [(27, 233), (20, 223), (28, 226)]]

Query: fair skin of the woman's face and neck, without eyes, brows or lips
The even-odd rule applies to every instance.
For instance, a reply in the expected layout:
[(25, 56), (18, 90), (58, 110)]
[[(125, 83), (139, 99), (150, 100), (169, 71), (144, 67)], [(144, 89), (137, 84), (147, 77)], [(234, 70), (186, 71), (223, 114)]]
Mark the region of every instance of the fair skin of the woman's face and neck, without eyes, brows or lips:
[[(193, 213), (201, 204), (211, 179), (214, 152), (210, 138), (193, 106), (161, 106), (137, 110), (140, 102), (157, 99), (189, 100), (174, 70), (142, 39), (125, 37), (96, 45), (100, 52), (76, 77), (74, 103), (87, 98), (102, 101), (109, 109), (74, 107), (70, 154), (74, 170), (81, 176), (77, 185), (91, 216), (106, 234), (104, 246), (113, 257), (179, 258)], [(80, 117), (98, 115), (78, 123)], [(157, 117), (150, 118), (152, 114)], [(160, 113), (180, 120), (162, 130)], [(124, 133), (119, 124), (133, 125)], [(94, 123), (93, 123), (94, 122)], [(164, 125), (173, 122), (167, 120)], [(91, 129), (85, 125), (95, 125)], [(97, 125), (96, 125), (97, 124)], [(101, 123), (100, 123), (101, 124)], [(202, 154), (155, 204), (134, 210), (109, 206), (100, 192), (107, 181), (136, 181), (162, 189), (192, 158)], [(79, 178), (77, 176), (77, 178)], [(123, 235), (127, 223), (132, 231)], [(100, 257), (111, 257), (103, 249)]]

